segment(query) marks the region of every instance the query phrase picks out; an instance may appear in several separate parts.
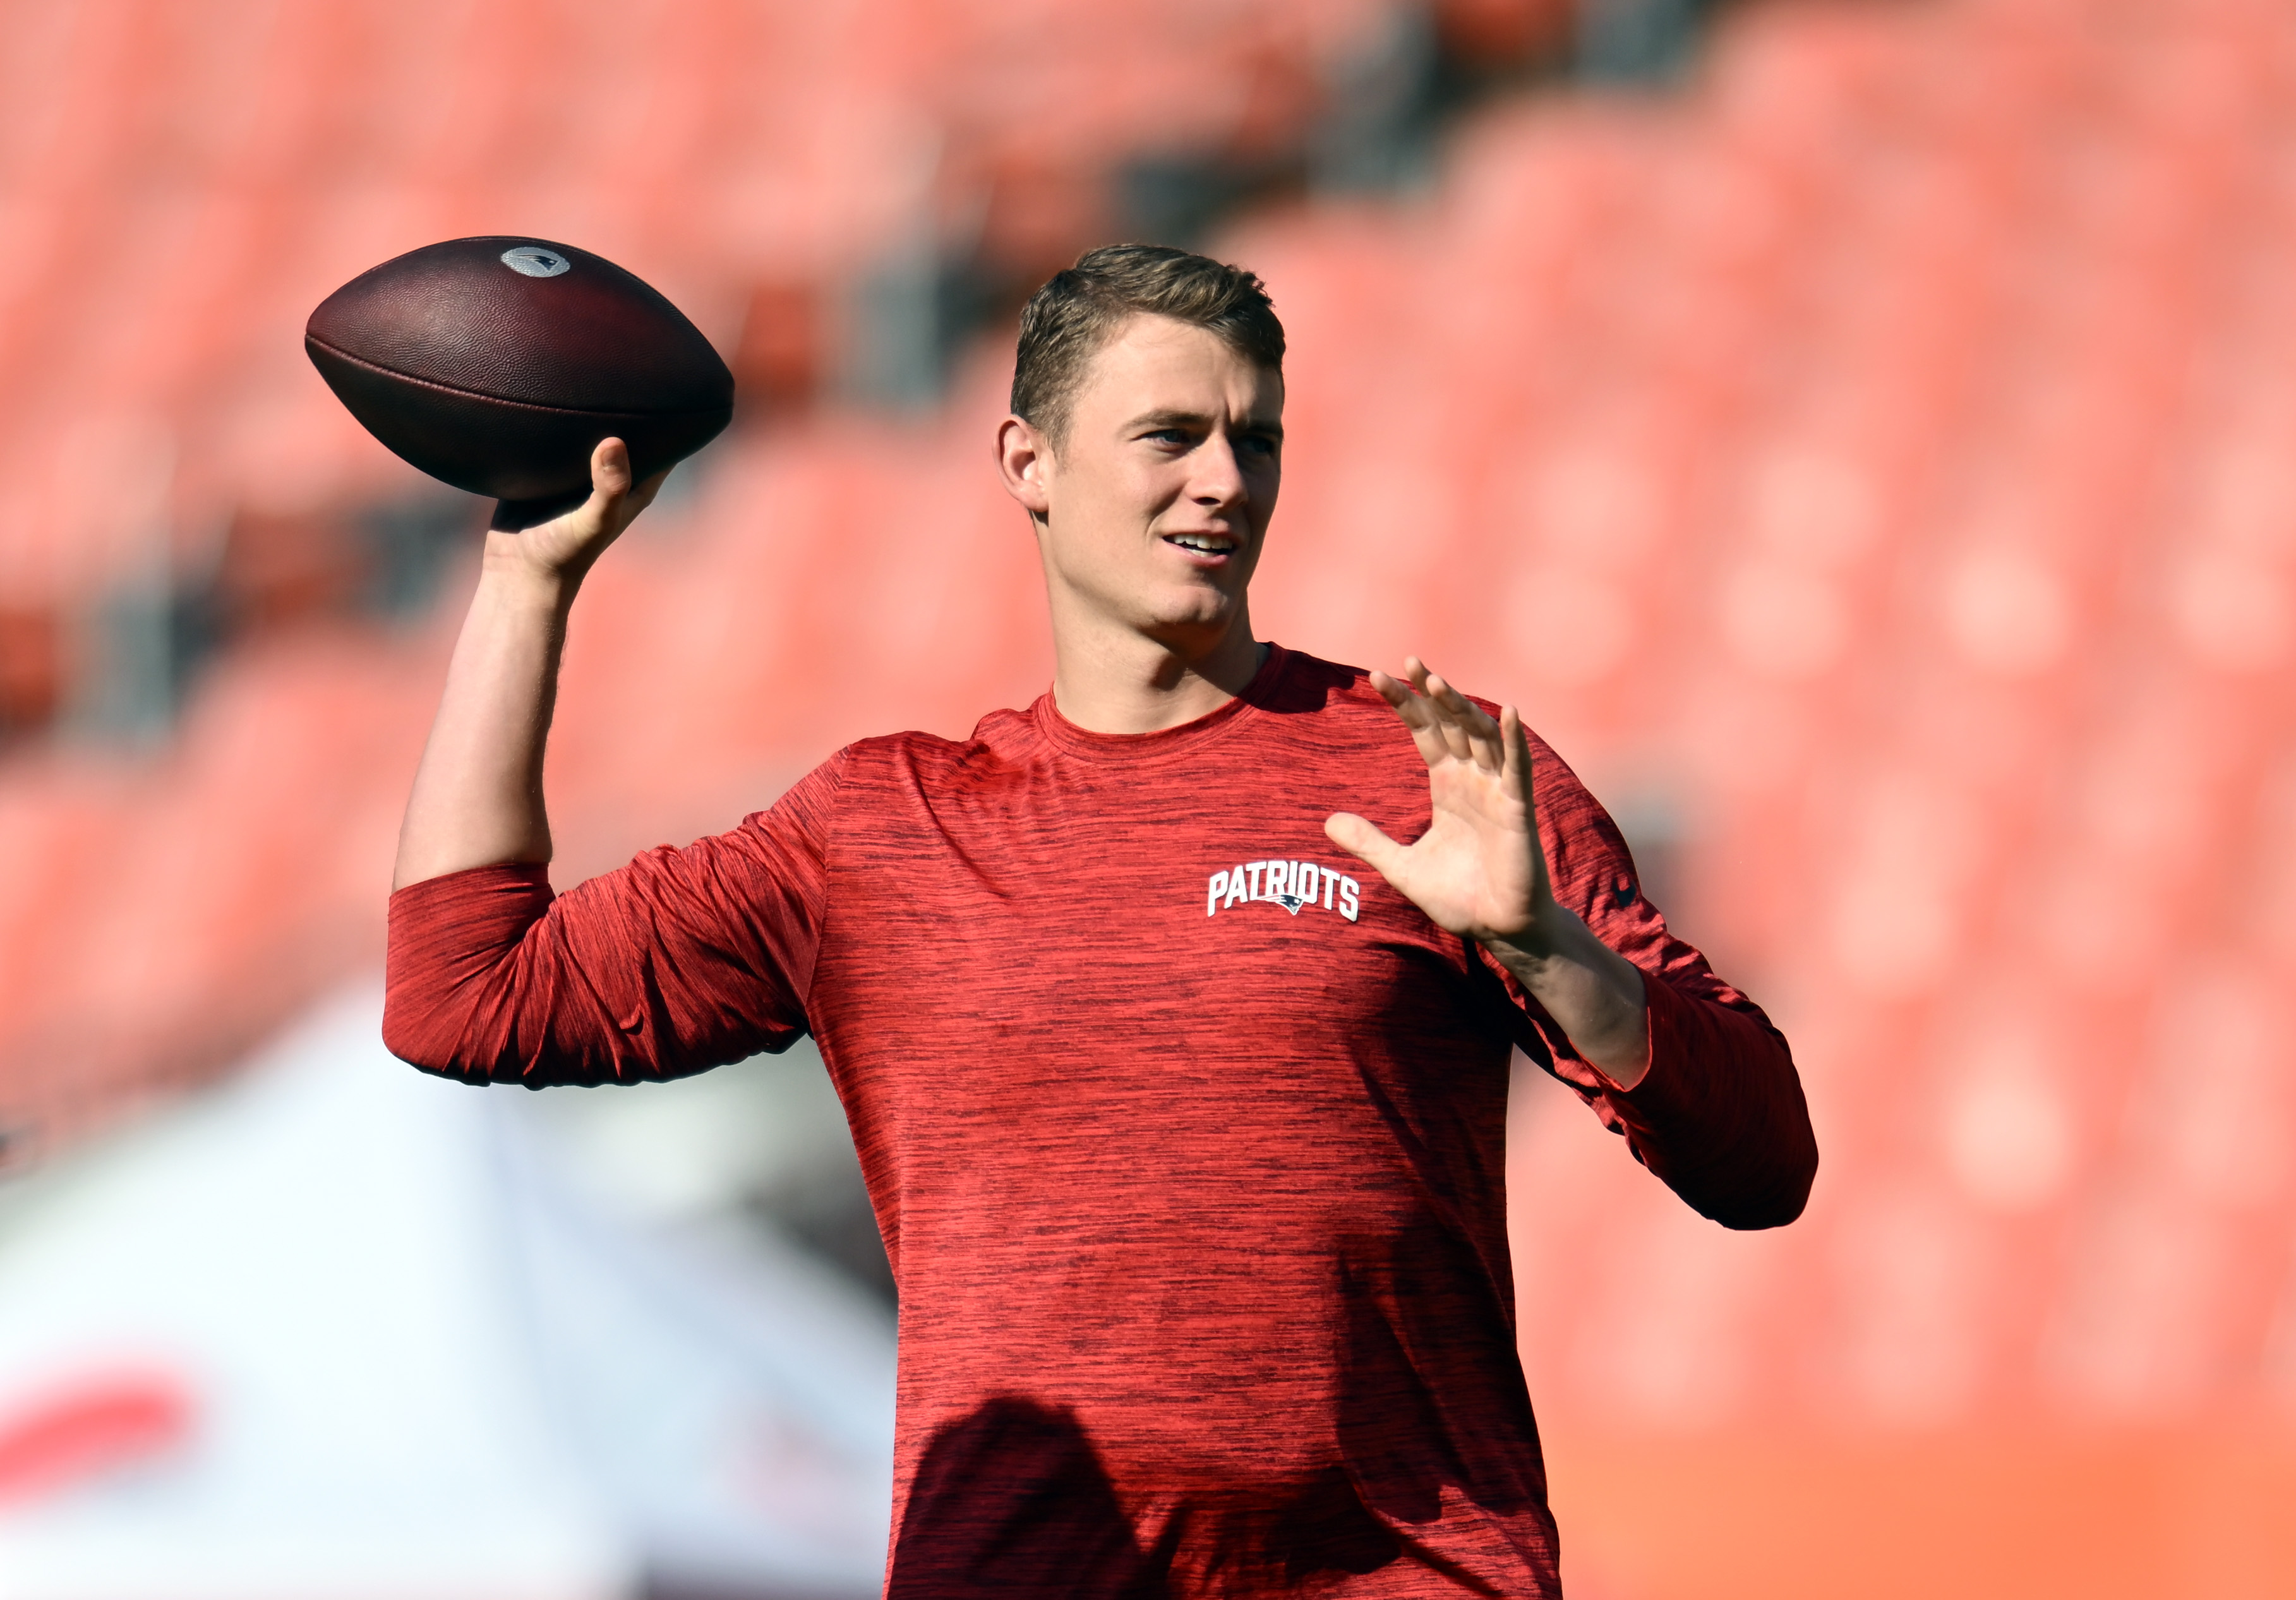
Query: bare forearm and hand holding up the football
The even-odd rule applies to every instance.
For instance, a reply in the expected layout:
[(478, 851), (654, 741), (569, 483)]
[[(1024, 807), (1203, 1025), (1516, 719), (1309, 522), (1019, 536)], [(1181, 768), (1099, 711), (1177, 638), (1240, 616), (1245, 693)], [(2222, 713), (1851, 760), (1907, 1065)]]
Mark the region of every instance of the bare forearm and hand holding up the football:
[(629, 480), (629, 450), (590, 455), (590, 498), (537, 528), (489, 533), (478, 592), (455, 640), (422, 746), (393, 888), (489, 865), (546, 865), (542, 746), (558, 698), (567, 613), (590, 565), (647, 507), (661, 475)]

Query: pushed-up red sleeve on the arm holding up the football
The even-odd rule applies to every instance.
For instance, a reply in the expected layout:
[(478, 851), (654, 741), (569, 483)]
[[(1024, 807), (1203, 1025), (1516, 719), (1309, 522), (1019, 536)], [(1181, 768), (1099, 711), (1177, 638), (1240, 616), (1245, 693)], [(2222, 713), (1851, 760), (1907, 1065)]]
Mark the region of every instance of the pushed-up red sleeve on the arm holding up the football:
[(390, 895), (383, 1044), (473, 1084), (668, 1079), (806, 1033), (840, 760), (730, 833), (551, 895), (540, 865)]

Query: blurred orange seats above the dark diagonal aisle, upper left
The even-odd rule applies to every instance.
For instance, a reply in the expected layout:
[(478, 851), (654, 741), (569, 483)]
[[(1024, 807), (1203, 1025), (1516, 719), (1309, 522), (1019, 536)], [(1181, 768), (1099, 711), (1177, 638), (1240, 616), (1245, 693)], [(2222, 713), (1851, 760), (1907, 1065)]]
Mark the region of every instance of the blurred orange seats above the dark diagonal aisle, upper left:
[[(1081, 204), (999, 213), (1019, 230), (996, 241), (1008, 255), (1058, 257), (1102, 225), (1095, 168), (1171, 145), (1176, 94), (1199, 108), (1182, 142), (1249, 117), (1297, 133), (1313, 96), (1270, 103), (1270, 73), (1313, 83), (1387, 9), (712, 0), (677, 28), (629, 28), (585, 0), (18, 5), (0, 200), (25, 225), (0, 358), (48, 374), (48, 413), (156, 409), (186, 438), (232, 432), (218, 397), (278, 411), (296, 383), (264, 374), (294, 365), (301, 317), (335, 282), (487, 230), (579, 234), (730, 342), (753, 285), (827, 289), (921, 227), (962, 227), (964, 186), (1017, 197), (1010, 152), (1081, 163), (1063, 179)], [(386, 482), (365, 468), (340, 489)], [(262, 494), (207, 489), (218, 514)], [(101, 560), (71, 572), (83, 597), (117, 578)], [(0, 597), (14, 583), (0, 567)]]

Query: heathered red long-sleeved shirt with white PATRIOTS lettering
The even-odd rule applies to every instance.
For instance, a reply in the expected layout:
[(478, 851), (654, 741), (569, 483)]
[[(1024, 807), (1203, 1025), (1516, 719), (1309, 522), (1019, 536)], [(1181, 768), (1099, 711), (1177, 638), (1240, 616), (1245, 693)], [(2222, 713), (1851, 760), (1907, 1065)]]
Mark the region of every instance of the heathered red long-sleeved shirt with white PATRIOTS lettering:
[(1166, 732), (1047, 696), (854, 744), (556, 902), (540, 868), (413, 884), (386, 1040), (542, 1086), (815, 1035), (900, 1283), (889, 1595), (1550, 1595), (1508, 1047), (1733, 1226), (1791, 1219), (1816, 1148), (1784, 1040), (1534, 758), (1557, 898), (1651, 980), (1632, 1093), (1325, 840), (1419, 836), (1426, 764), (1283, 650)]

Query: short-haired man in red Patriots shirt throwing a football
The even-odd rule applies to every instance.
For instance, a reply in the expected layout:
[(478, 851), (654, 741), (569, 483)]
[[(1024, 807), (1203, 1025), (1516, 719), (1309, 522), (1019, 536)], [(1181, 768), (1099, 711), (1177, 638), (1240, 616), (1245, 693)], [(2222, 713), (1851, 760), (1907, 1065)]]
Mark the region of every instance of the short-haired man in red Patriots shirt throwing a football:
[(889, 1595), (1557, 1593), (1508, 1049), (1727, 1226), (1809, 1191), (1784, 1040), (1513, 709), (1254, 638), (1281, 360), (1244, 271), (1058, 273), (996, 434), (1052, 693), (847, 746), (556, 902), (567, 608), (654, 484), (608, 441), (585, 507), (489, 535), (400, 840), (390, 1049), (544, 1086), (815, 1035), (900, 1283)]

